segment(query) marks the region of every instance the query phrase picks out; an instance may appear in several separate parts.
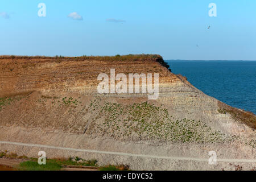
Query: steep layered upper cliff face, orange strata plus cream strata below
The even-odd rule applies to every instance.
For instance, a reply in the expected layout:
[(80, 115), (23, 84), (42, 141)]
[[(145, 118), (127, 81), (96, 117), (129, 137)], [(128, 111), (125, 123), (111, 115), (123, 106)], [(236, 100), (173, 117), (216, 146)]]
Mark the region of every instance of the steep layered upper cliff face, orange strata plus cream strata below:
[[(97, 85), (100, 81), (97, 77), (100, 73), (110, 75), (110, 69), (115, 73), (159, 73), (159, 95), (161, 101), (166, 104), (174, 104), (181, 111), (191, 110), (193, 107), (200, 110), (201, 98), (204, 94), (194, 88), (186, 78), (177, 76), (168, 71), (159, 62), (162, 57), (144, 56), (127, 60), (111, 58), (104, 60), (97, 57), (2, 57), (0, 96), (23, 94), (33, 91), (52, 93), (76, 93), (85, 95), (97, 95)], [(153, 77), (154, 80), (154, 77)], [(122, 94), (125, 95), (125, 94)], [(119, 94), (112, 94), (120, 97)], [(132, 94), (130, 97), (138, 97), (142, 94)], [(182, 97), (182, 98), (180, 98)], [(205, 97), (205, 102), (212, 102)], [(216, 110), (205, 104), (203, 110)]]

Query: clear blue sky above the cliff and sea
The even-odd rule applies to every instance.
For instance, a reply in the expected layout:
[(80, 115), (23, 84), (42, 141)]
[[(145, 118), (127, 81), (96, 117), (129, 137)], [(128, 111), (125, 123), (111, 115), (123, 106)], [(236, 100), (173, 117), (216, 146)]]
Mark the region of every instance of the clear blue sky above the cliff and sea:
[[(208, 15), (209, 3), (217, 17)], [(255, 9), (255, 0), (1, 0), (0, 55), (256, 60)]]

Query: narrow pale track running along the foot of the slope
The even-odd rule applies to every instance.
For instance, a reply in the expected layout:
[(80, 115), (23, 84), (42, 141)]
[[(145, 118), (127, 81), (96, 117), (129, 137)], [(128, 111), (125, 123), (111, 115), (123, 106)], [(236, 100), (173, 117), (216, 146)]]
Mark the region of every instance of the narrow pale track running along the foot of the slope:
[[(55, 146), (47, 146), (43, 144), (30, 144), (30, 143), (5, 142), (5, 141), (0, 141), (0, 144), (14, 144), (18, 146), (28, 146), (28, 147), (43, 147), (43, 148), (52, 148), (52, 149), (58, 149), (58, 150), (90, 152), (90, 153), (96, 153), (96, 154), (125, 155), (125, 156), (141, 157), (141, 158), (195, 160), (195, 161), (201, 161), (201, 162), (208, 162), (208, 159), (200, 159), (200, 158), (183, 158), (183, 157), (169, 157), (169, 156), (144, 155), (144, 154), (129, 154), (124, 152), (110, 152), (110, 151), (87, 150), (87, 149), (79, 149), (79, 148), (55, 147)], [(256, 163), (256, 159), (217, 159), (217, 162)]]

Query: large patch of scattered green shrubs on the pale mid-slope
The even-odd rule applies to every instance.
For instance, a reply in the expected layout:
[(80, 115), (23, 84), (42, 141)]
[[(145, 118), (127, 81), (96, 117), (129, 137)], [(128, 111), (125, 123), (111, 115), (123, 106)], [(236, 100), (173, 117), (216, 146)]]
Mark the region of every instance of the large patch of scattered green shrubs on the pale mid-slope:
[(90, 103), (90, 110), (96, 110), (98, 118), (106, 116), (103, 126), (96, 124), (97, 131), (94, 132), (100, 130), (119, 139), (136, 137), (183, 143), (223, 143), (237, 139), (237, 136), (212, 130), (204, 121), (175, 119), (167, 109), (148, 102), (131, 105), (105, 102), (102, 105), (94, 100)]

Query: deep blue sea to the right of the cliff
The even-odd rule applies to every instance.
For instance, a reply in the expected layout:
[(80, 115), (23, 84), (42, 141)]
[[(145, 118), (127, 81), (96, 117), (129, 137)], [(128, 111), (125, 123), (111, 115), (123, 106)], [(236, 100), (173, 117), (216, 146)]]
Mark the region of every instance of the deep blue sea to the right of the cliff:
[(256, 114), (256, 61), (166, 62), (205, 94)]

